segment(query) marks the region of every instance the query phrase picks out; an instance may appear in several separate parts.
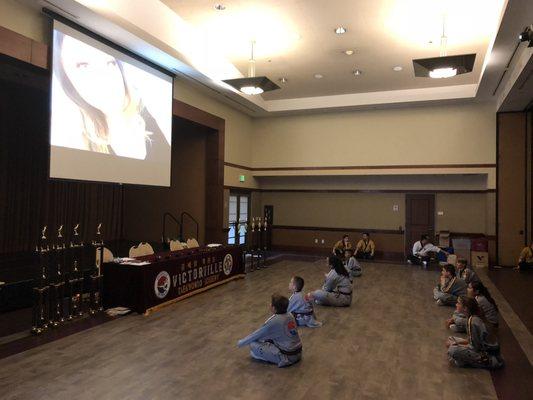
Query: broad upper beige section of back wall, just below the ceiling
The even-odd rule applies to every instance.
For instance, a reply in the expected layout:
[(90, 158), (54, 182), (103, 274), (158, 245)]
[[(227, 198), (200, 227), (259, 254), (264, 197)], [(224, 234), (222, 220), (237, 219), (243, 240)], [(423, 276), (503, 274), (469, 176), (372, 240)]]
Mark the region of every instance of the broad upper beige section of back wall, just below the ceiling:
[(495, 124), (485, 104), (260, 118), (253, 166), (495, 163)]

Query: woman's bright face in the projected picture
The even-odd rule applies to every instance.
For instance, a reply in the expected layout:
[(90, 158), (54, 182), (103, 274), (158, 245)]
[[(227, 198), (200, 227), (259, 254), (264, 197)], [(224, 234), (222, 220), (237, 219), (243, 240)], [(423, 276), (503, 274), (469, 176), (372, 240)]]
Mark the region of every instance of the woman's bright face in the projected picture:
[(61, 60), (75, 90), (91, 106), (109, 115), (127, 105), (124, 77), (114, 57), (65, 36)]

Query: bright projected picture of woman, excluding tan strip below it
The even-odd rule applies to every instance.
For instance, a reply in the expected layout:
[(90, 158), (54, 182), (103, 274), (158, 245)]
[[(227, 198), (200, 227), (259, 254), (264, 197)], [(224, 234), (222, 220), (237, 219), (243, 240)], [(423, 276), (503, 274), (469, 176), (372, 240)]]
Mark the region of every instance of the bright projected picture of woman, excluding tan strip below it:
[(62, 32), (54, 39), (52, 145), (136, 159), (165, 155), (168, 116), (146, 100), (165, 108), (168, 98), (157, 104), (157, 94), (166, 82)]

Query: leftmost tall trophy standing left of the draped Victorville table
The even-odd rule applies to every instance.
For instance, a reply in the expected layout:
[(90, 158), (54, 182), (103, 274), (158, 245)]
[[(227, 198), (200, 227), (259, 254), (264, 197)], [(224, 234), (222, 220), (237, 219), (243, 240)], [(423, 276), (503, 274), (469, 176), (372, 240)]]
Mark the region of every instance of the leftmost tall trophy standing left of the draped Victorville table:
[(46, 238), (46, 225), (41, 231), (39, 244), (35, 249), (39, 255), (41, 265), (41, 276), (37, 287), (33, 288), (33, 310), (32, 310), (32, 328), (31, 332), (40, 335), (48, 329), (49, 320), (49, 291), (47, 271), (50, 263), (50, 247)]

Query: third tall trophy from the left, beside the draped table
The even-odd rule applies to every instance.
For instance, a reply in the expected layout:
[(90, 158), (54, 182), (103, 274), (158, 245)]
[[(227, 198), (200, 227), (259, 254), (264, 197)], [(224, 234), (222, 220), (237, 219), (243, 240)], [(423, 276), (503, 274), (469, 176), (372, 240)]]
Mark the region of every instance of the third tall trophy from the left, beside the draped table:
[(83, 242), (80, 239), (79, 228), (79, 223), (74, 226), (74, 233), (70, 241), (72, 270), (68, 279), (69, 313), (67, 319), (69, 321), (83, 315), (83, 271), (80, 267)]

